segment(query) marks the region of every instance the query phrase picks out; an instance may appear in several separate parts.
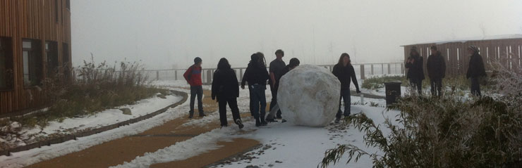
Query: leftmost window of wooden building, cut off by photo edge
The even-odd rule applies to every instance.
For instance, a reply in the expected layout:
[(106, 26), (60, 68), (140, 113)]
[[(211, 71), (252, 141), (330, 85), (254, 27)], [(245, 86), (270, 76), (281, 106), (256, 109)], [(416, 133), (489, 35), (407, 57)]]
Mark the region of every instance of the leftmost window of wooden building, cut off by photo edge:
[(0, 37), (0, 91), (13, 89), (12, 51), (11, 38)]

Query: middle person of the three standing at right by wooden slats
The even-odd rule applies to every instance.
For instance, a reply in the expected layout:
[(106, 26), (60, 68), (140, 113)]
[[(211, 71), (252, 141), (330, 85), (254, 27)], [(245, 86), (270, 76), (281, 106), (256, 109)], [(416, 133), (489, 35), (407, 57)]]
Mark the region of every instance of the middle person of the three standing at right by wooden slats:
[(427, 58), (427, 76), (430, 77), (432, 96), (442, 96), (442, 78), (446, 77), (446, 61), (437, 46), (431, 46), (432, 54)]

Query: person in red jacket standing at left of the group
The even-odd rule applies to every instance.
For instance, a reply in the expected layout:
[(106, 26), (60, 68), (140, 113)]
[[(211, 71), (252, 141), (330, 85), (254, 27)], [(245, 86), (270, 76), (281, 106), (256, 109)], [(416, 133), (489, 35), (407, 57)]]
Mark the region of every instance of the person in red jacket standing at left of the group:
[(188, 67), (187, 71), (183, 74), (185, 80), (190, 84), (190, 111), (188, 112), (188, 118), (194, 117), (194, 99), (196, 96), (198, 96), (198, 111), (200, 112), (200, 117), (206, 116), (205, 112), (203, 112), (202, 102), (201, 64), (201, 58), (194, 58), (194, 65)]

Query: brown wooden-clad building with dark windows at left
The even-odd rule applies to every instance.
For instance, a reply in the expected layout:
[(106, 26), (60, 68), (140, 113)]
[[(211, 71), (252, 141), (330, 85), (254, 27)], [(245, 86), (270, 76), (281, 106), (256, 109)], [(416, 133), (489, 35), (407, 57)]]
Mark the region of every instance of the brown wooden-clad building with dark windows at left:
[(0, 1), (0, 115), (43, 105), (42, 80), (71, 70), (69, 0)]

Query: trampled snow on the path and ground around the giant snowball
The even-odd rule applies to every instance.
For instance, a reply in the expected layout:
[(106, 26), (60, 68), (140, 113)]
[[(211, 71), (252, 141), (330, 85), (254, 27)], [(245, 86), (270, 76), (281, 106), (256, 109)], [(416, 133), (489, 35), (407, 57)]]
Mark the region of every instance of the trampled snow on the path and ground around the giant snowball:
[[(157, 82), (163, 86), (169, 84), (183, 84), (183, 82)], [(269, 89), (266, 90), (267, 98), (271, 96)], [(351, 96), (351, 102), (360, 101), (360, 97)], [(384, 99), (365, 98), (365, 103), (378, 103), (384, 106)], [(248, 112), (248, 89), (240, 90), (238, 105), (240, 112)], [(229, 110), (229, 109), (227, 109)], [(369, 105), (352, 105), (352, 114), (364, 112), (368, 117), (374, 119), (376, 124), (384, 122), (385, 117), (394, 118), (399, 114), (398, 111), (385, 110), (384, 107), (370, 107)], [(231, 112), (228, 112), (229, 118)], [(188, 125), (205, 125), (215, 122), (219, 116), (210, 115), (204, 119), (192, 120)], [(392, 121), (394, 119), (391, 119)], [(254, 160), (242, 160), (231, 164), (217, 165), (216, 167), (247, 167), (249, 165), (258, 167), (316, 167), (324, 157), (324, 152), (330, 148), (335, 148), (338, 144), (353, 144), (370, 153), (375, 149), (365, 148), (363, 134), (353, 127), (342, 127), (340, 124), (330, 124), (324, 128), (298, 127), (286, 123), (270, 123), (267, 127), (254, 127), (252, 119), (245, 119), (243, 130), (237, 127), (225, 127), (224, 129), (214, 129), (200, 136), (195, 136), (188, 141), (183, 141), (157, 150), (154, 153), (147, 153), (144, 156), (136, 157), (135, 160), (126, 162), (115, 167), (149, 167), (151, 164), (159, 162), (171, 162), (185, 160), (189, 157), (205, 153), (205, 151), (219, 148), (217, 141), (228, 141), (231, 138), (251, 138), (270, 146), (271, 148), (257, 149), (253, 153), (263, 153), (256, 155)], [(387, 131), (386, 129), (384, 129)], [(247, 134), (245, 134), (247, 133)], [(388, 134), (384, 132), (384, 134)], [(263, 150), (263, 151), (260, 151)], [(276, 162), (277, 161), (277, 162)], [(331, 167), (371, 167), (372, 161), (368, 157), (362, 157), (358, 162), (346, 165), (347, 157), (341, 162)]]

